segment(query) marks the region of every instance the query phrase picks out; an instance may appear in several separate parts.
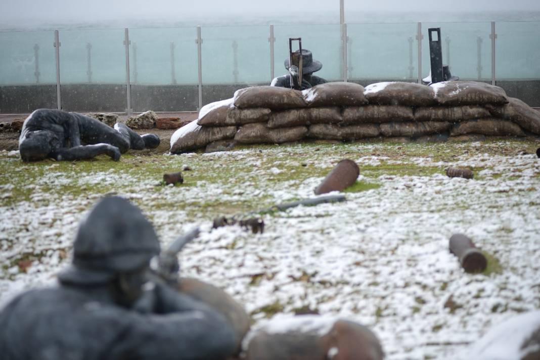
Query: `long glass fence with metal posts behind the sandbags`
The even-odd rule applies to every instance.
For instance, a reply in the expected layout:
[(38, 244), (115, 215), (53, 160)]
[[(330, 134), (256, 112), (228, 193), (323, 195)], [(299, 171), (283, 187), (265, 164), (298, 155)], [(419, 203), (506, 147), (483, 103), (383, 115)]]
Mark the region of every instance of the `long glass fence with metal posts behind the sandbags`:
[(0, 32), (0, 86), (56, 84), (62, 108), (63, 85), (116, 84), (125, 97), (117, 111), (128, 113), (133, 85), (188, 86), (200, 108), (204, 85), (265, 84), (285, 73), (289, 37), (302, 37), (328, 80), (420, 82), (432, 27), (461, 79), (540, 79), (540, 22), (343, 23)]

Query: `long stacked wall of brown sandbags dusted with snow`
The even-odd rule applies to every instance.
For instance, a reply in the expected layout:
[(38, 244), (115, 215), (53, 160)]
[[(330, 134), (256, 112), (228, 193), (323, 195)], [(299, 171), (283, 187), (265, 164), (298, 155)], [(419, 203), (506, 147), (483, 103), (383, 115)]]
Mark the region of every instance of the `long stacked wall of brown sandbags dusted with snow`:
[(540, 113), (503, 89), (475, 81), (327, 83), (298, 91), (240, 89), (201, 108), (199, 118), (171, 138), (171, 152), (214, 141), (281, 144), (302, 139), (444, 139), (464, 134), (540, 135)]

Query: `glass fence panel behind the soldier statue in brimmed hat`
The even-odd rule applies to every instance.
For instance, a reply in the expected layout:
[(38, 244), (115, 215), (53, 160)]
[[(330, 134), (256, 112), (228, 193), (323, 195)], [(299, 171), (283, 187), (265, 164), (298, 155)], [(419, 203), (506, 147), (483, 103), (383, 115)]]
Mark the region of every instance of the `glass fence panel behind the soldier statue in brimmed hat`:
[[(289, 58), (289, 38), (302, 38), (302, 48), (313, 53), (313, 59), (322, 63), (316, 76), (328, 81), (340, 81), (341, 75), (341, 25), (275, 25), (274, 26), (275, 76), (285, 75), (285, 59)], [(293, 43), (293, 50), (298, 43)]]

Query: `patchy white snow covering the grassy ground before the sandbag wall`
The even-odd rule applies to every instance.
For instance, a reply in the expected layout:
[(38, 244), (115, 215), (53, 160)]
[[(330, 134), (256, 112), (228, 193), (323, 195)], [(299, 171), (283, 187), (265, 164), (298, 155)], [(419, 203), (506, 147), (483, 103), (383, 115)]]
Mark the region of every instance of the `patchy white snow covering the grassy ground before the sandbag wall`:
[[(224, 288), (245, 305), (256, 324), (293, 316), (301, 308), (358, 321), (380, 338), (388, 359), (467, 358), (469, 344), (489, 328), (525, 311), (540, 309), (540, 160), (495, 148), (504, 143), (453, 146), (455, 161), (429, 155), (390, 159), (388, 145), (347, 145), (346, 155), (326, 147), (275, 146), (228, 153), (165, 156), (181, 168), (224, 164), (251, 168), (239, 178), (197, 186), (156, 187), (155, 179), (113, 170), (73, 173), (77, 184), (128, 184), (119, 194), (152, 219), (164, 246), (198, 225), (202, 232), (180, 255), (181, 272)], [(420, 145), (418, 145), (420, 146)], [(438, 145), (445, 146), (445, 145)], [(465, 151), (466, 148), (466, 151)], [(485, 150), (485, 153), (483, 152)], [(373, 155), (375, 153), (375, 155)], [(378, 155), (377, 155), (378, 153)], [(326, 173), (348, 157), (361, 166), (405, 164), (439, 167), (430, 175), (378, 175), (359, 180), (381, 187), (347, 193), (344, 203), (297, 207), (264, 216), (264, 234), (238, 226), (211, 229), (200, 204), (259, 201), (260, 208), (313, 196), (322, 176), (275, 181), (300, 159)], [(267, 164), (265, 159), (272, 159)], [(18, 161), (0, 154), (0, 164)], [(195, 164), (195, 165), (194, 165)], [(18, 291), (54, 281), (69, 261), (77, 222), (100, 193), (78, 196), (44, 192), (73, 179), (45, 174), (33, 184), (0, 183), (0, 199), (14, 187), (32, 189), (31, 199), (0, 207), (0, 306)], [(475, 179), (450, 179), (447, 166), (475, 169)], [(185, 173), (185, 176), (189, 176)], [(133, 184), (138, 184), (133, 186)], [(1, 200), (0, 200), (1, 201)], [(177, 203), (162, 207), (163, 202)], [(3, 204), (3, 202), (0, 202)], [(223, 215), (232, 215), (224, 213)], [(467, 234), (501, 264), (499, 273), (465, 274), (448, 251), (455, 233)], [(40, 254), (26, 273), (14, 263)], [(269, 311), (268, 309), (274, 309)]]

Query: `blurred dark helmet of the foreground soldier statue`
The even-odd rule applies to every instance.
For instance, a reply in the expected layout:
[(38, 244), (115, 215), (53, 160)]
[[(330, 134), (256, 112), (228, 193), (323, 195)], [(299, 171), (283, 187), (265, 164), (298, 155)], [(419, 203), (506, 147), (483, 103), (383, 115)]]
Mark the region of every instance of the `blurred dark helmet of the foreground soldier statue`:
[(58, 279), (63, 283), (105, 283), (147, 266), (159, 250), (156, 232), (141, 210), (119, 196), (107, 197), (80, 222), (72, 264)]

